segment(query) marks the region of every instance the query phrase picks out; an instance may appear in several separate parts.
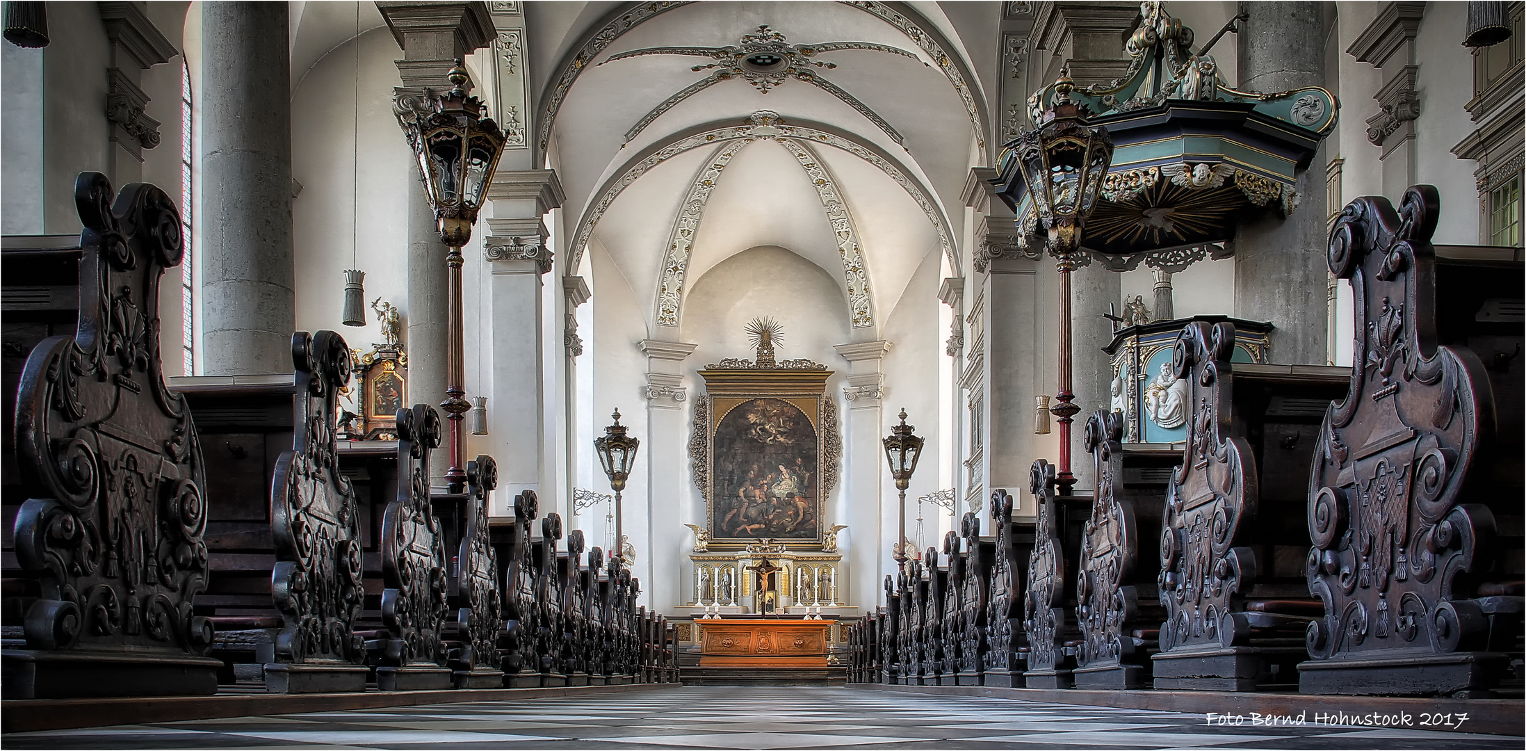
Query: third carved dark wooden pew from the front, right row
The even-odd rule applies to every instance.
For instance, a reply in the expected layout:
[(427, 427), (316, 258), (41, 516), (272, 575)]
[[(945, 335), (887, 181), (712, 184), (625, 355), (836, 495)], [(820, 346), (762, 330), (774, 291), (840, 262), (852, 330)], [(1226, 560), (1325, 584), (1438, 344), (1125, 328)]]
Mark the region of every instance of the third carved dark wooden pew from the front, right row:
[[(1160, 498), (1135, 504), (1125, 487), (1123, 415), (1097, 411), (1085, 446), (1096, 467), (1091, 517), (1082, 528), (1076, 574), (1080, 644), (1071, 676), (1077, 688), (1138, 688), (1149, 684), (1149, 652), (1163, 609), (1155, 603)], [(1143, 589), (1143, 592), (1141, 592)], [(1148, 630), (1146, 630), (1148, 629)]]

